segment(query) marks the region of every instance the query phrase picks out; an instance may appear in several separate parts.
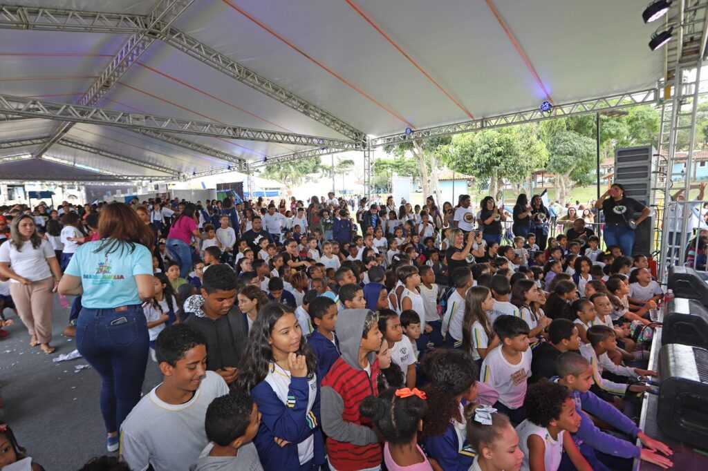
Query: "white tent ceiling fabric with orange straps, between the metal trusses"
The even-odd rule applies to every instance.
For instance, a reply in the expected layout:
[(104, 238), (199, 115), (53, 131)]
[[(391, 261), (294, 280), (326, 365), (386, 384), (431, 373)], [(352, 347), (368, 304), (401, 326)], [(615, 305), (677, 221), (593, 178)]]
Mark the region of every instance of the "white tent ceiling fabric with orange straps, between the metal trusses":
[[(146, 15), (154, 5), (137, 0), (2, 3), (139, 15)], [(470, 115), (479, 118), (532, 109), (548, 99), (547, 93), (555, 103), (566, 103), (655, 86), (663, 74), (663, 57), (646, 46), (653, 31), (641, 21), (646, 3), (199, 0), (173, 27), (356, 129), (382, 136), (406, 127), (467, 121)], [(125, 34), (0, 29), (1, 93), (76, 103), (126, 38)], [(154, 42), (96, 106), (346, 139), (161, 41)], [(47, 136), (57, 124), (0, 122), (0, 141)], [(67, 136), (187, 175), (228, 165), (127, 129), (79, 123)], [(249, 161), (307, 149), (181, 137)], [(0, 157), (35, 150), (0, 149)], [(156, 174), (59, 144), (47, 155), (76, 159), (109, 172), (122, 169), (126, 175)]]

